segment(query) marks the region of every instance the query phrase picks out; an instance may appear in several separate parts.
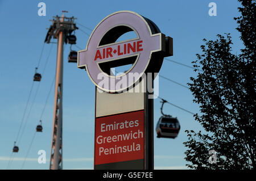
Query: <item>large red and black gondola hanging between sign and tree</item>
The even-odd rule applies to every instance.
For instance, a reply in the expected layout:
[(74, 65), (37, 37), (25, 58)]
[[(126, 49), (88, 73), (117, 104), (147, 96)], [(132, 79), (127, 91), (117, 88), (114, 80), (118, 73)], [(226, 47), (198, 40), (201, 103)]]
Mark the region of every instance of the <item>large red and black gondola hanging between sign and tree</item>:
[[(163, 100), (162, 103), (166, 103), (166, 100)], [(163, 116), (159, 118), (158, 124), (156, 125), (157, 137), (176, 138), (180, 131), (179, 120), (177, 120), (177, 117), (165, 115), (163, 113), (163, 104), (160, 108)]]

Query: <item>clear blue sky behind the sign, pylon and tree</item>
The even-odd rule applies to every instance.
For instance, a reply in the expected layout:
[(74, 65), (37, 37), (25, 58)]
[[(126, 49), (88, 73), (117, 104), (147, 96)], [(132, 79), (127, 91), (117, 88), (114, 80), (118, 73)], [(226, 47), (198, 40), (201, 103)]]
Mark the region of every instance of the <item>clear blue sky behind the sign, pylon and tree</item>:
[[(38, 16), (38, 3), (46, 3), (46, 16)], [(209, 16), (209, 3), (217, 5), (217, 16)], [(218, 33), (231, 33), (233, 53), (242, 47), (240, 34), (233, 17), (238, 16), (237, 1), (0, 1), (0, 169), (6, 169), (14, 141), (18, 134), (24, 108), (32, 84), (35, 67), (52, 16), (75, 16), (76, 22), (93, 29), (101, 19), (119, 10), (130, 10), (151, 19), (160, 30), (174, 39), (174, 56), (171, 60), (192, 66), (196, 53), (200, 53), (203, 39), (216, 39)], [(79, 26), (82, 31), (89, 30)], [(88, 36), (76, 31), (77, 46), (85, 48)], [(75, 50), (79, 48), (73, 46)], [(50, 52), (51, 50), (51, 52)], [(50, 52), (50, 53), (49, 53)], [(69, 64), (69, 45), (64, 50), (63, 91), (63, 167), (64, 169), (93, 169), (94, 150), (94, 85), (84, 70)], [(47, 61), (47, 57), (48, 61)], [(46, 64), (47, 62), (47, 64)], [(55, 75), (56, 45), (46, 44), (38, 71), (42, 82), (35, 96), (38, 82), (34, 83), (28, 104), (26, 127), (19, 142), (19, 153), (14, 154), (9, 169), (49, 169), (51, 149), (53, 89), (43, 112), (43, 132), (36, 133), (27, 161), (22, 167), (28, 147), (39, 123), (43, 107)], [(195, 77), (192, 69), (164, 61), (160, 75), (185, 85), (189, 77)], [(192, 102), (191, 92), (159, 77), (159, 96), (191, 112), (199, 113), (199, 106)], [(34, 104), (32, 104), (32, 100)], [(154, 101), (154, 124), (160, 117), (160, 100)], [(30, 111), (31, 110), (31, 111)], [(154, 140), (155, 169), (185, 169), (183, 145), (187, 141), (186, 129), (200, 130), (193, 116), (166, 104), (164, 112), (177, 116), (181, 124), (175, 140)], [(29, 113), (29, 114), (28, 114)], [(24, 124), (23, 124), (24, 125)], [(39, 164), (38, 150), (46, 150), (47, 163)]]

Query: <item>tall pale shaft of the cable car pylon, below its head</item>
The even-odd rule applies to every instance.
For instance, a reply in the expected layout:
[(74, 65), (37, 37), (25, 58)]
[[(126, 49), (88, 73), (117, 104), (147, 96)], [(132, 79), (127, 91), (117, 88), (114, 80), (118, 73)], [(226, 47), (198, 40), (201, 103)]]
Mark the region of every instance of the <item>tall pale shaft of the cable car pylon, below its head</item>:
[[(64, 15), (60, 22), (63, 22)], [(51, 160), (49, 169), (63, 169), (62, 149), (62, 98), (63, 98), (63, 43), (64, 32), (60, 29), (57, 32), (57, 64), (55, 79), (55, 99), (52, 127)]]

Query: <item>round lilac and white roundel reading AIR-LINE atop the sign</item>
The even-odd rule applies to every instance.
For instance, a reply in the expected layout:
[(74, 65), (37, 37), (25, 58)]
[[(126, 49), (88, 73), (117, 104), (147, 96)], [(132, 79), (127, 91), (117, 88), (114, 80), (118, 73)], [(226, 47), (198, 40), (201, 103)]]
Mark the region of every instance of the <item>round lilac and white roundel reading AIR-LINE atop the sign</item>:
[[(134, 31), (137, 38), (115, 42), (124, 33)], [(163, 57), (172, 56), (172, 38), (160, 33), (151, 20), (132, 11), (118, 11), (106, 16), (94, 28), (84, 50), (79, 50), (77, 67), (86, 69), (99, 89), (119, 92), (133, 87), (143, 73), (159, 72)], [(133, 64), (121, 75), (111, 75), (110, 68)], [(129, 76), (131, 75), (131, 76)], [(126, 76), (126, 85), (117, 83)], [(102, 85), (102, 80), (105, 83)]]

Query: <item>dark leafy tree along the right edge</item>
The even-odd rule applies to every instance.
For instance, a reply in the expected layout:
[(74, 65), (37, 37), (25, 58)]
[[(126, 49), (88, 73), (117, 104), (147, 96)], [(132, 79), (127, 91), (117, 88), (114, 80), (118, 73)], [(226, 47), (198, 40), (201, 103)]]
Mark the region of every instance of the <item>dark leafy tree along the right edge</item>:
[[(234, 18), (244, 48), (232, 53), (229, 34), (205, 40), (202, 54), (194, 61), (197, 77), (188, 83), (200, 106), (195, 120), (203, 132), (185, 131), (185, 160), (191, 169), (255, 169), (255, 0), (242, 1)], [(199, 70), (199, 67), (201, 70)], [(217, 152), (217, 163), (209, 163), (209, 150)]]

